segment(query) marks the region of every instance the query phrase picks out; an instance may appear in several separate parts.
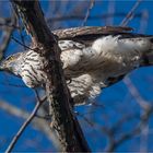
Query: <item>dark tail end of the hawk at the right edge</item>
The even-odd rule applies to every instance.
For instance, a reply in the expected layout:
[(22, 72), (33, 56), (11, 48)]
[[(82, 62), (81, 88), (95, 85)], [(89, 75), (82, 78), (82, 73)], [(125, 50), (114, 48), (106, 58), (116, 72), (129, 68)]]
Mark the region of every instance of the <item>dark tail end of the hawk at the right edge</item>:
[(150, 48), (142, 54), (141, 67), (153, 66), (153, 36), (149, 38)]

